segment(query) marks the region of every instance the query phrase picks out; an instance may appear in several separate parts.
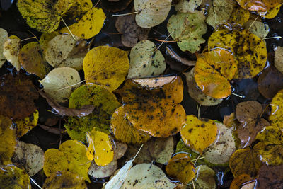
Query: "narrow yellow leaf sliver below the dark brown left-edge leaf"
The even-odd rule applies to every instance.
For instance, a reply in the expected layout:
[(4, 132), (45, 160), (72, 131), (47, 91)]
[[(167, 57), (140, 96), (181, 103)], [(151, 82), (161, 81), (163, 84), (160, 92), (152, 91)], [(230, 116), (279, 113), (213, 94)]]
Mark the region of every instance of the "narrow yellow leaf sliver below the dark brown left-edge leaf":
[(38, 110), (35, 110), (32, 115), (21, 120), (15, 120), (17, 137), (23, 137), (23, 135), (32, 130), (33, 127), (37, 125), (38, 118), (39, 112)]

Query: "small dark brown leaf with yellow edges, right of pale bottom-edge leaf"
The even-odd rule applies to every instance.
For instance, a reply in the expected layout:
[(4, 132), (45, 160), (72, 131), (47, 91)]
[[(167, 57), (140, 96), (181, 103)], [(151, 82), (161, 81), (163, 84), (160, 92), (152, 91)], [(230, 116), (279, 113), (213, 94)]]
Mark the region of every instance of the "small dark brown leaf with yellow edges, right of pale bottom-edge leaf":
[(168, 173), (168, 176), (187, 184), (195, 177), (195, 166), (187, 154), (179, 153), (168, 161), (166, 173)]

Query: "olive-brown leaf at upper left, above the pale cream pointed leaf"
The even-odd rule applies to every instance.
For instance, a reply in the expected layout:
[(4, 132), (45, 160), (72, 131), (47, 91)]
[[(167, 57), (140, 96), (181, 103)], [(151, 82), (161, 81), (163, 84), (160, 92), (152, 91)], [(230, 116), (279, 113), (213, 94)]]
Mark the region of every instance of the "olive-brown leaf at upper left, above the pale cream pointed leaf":
[(44, 78), (50, 71), (50, 66), (45, 61), (38, 42), (30, 42), (23, 46), (18, 53), (18, 61), (25, 71), (40, 78)]

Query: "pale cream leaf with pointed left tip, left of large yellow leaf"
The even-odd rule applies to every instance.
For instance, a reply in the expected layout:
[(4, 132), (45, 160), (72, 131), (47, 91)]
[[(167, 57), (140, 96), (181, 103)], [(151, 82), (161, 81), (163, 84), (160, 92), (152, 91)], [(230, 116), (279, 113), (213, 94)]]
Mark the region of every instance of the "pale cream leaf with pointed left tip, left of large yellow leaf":
[(66, 102), (71, 92), (79, 87), (81, 78), (76, 69), (70, 67), (55, 68), (50, 71), (44, 79), (40, 80), (45, 93), (54, 101)]

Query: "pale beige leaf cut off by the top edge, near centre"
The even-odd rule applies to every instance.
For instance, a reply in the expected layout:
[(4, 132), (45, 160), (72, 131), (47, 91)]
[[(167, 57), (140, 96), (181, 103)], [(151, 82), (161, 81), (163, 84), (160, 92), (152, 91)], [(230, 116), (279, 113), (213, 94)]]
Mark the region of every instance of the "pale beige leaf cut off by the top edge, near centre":
[(137, 25), (152, 28), (165, 21), (171, 8), (172, 0), (134, 0)]

